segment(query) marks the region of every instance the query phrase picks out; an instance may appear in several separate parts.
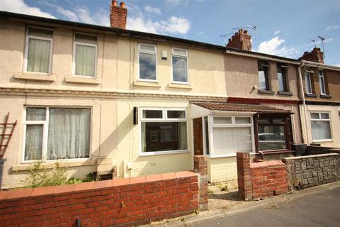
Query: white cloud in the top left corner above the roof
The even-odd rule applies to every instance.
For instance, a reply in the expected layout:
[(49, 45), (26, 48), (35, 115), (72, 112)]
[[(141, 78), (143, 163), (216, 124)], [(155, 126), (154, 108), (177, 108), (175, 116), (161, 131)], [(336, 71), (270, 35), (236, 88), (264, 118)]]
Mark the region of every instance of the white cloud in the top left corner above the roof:
[(1, 0), (0, 2), (0, 10), (1, 11), (9, 11), (13, 13), (23, 13), (33, 16), (42, 16), (47, 18), (55, 18), (50, 13), (45, 13), (41, 11), (39, 8), (31, 7), (25, 4), (23, 0)]

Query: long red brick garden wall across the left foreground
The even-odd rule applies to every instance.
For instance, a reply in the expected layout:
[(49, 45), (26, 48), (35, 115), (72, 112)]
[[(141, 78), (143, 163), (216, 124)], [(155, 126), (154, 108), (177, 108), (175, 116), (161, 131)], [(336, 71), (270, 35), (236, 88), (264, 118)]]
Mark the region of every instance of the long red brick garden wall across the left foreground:
[(173, 172), (0, 192), (0, 226), (135, 226), (192, 214), (198, 175)]

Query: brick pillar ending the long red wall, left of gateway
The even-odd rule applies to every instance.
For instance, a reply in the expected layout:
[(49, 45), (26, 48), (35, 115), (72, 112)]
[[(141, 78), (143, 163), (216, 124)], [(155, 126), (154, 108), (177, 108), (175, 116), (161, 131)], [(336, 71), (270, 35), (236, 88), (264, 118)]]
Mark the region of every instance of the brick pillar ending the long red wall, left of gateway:
[(208, 162), (204, 155), (193, 156), (193, 169), (200, 174), (200, 211), (208, 210)]

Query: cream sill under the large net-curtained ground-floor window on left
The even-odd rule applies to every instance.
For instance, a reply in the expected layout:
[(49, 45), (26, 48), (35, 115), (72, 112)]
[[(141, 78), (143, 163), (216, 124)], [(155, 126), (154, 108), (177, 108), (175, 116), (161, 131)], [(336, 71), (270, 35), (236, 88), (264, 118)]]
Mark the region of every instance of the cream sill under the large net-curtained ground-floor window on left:
[[(41, 165), (42, 169), (52, 169), (55, 167), (55, 163), (59, 161), (61, 167), (77, 167), (77, 166), (88, 166), (88, 165), (96, 165), (96, 160), (56, 160), (56, 161), (47, 161)], [(12, 171), (26, 171), (34, 162), (28, 162), (20, 165), (12, 165)]]

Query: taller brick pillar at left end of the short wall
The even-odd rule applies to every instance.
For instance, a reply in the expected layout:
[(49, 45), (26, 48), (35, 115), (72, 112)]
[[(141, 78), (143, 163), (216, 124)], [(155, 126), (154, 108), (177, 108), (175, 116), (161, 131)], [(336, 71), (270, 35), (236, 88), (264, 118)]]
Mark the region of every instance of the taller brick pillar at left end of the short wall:
[(237, 183), (239, 184), (239, 196), (245, 201), (251, 200), (251, 171), (249, 153), (237, 153)]

